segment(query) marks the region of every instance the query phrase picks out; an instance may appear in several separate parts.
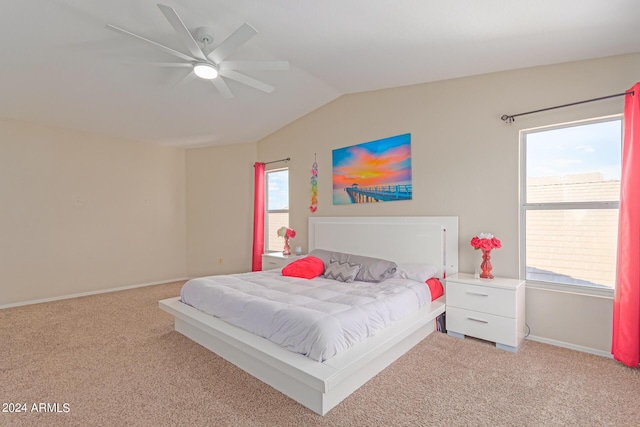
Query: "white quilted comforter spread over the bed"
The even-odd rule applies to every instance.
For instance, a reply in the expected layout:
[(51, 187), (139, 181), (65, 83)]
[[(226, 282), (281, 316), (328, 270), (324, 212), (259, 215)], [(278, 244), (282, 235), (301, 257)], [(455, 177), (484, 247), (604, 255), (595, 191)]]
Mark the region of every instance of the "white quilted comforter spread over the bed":
[(182, 301), (311, 359), (324, 361), (430, 304), (409, 279), (343, 283), (280, 270), (189, 280)]

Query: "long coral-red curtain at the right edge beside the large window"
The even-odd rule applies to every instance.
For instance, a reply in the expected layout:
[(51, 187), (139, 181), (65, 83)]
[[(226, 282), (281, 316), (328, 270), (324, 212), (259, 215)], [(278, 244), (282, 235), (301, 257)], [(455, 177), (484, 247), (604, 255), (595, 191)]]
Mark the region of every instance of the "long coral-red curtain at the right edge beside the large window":
[[(625, 95), (618, 266), (611, 353), (627, 366), (640, 363), (640, 83)], [(629, 92), (627, 91), (627, 92)]]

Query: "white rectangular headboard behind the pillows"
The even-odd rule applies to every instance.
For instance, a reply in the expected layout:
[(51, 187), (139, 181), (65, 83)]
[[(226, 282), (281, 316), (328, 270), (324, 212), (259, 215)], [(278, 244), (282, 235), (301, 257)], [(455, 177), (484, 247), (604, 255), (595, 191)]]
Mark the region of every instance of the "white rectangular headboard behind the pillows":
[(326, 249), (458, 272), (458, 217), (309, 217), (309, 251)]

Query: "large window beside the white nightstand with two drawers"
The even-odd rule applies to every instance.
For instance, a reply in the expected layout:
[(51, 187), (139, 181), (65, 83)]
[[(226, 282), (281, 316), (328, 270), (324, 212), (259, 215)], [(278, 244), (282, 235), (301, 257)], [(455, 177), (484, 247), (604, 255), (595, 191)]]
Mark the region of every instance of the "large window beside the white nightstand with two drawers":
[(606, 294), (615, 286), (622, 119), (523, 131), (521, 144), (522, 277)]

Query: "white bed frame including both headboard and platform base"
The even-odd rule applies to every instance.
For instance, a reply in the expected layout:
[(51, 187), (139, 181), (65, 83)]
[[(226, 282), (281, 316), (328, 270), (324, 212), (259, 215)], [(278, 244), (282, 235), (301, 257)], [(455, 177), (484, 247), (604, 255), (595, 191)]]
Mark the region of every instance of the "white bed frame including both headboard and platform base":
[[(458, 218), (311, 217), (309, 251), (315, 248), (437, 265), (444, 278), (458, 271)], [(320, 415), (434, 332), (434, 319), (445, 311), (442, 296), (320, 363), (183, 304), (179, 297), (159, 304), (175, 317), (176, 331)]]

